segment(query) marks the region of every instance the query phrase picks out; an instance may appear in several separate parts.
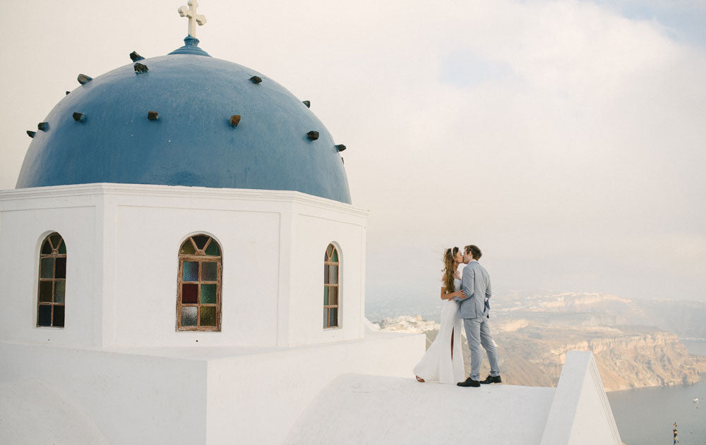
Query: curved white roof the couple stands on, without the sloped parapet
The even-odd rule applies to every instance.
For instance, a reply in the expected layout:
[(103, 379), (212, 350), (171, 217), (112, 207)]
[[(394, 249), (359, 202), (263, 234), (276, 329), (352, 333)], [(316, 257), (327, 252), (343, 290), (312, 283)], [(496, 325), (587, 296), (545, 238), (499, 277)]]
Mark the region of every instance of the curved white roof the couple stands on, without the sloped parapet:
[(553, 388), (480, 388), (348, 374), (285, 440), (311, 444), (539, 444)]

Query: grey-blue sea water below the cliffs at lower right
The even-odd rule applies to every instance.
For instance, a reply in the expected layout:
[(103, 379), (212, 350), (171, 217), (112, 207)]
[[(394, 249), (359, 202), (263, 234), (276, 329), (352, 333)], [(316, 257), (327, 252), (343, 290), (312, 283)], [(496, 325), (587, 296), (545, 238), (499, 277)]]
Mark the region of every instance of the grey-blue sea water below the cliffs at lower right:
[[(686, 341), (689, 353), (706, 357), (706, 340)], [(706, 379), (693, 385), (630, 389), (608, 393), (626, 445), (706, 445)]]

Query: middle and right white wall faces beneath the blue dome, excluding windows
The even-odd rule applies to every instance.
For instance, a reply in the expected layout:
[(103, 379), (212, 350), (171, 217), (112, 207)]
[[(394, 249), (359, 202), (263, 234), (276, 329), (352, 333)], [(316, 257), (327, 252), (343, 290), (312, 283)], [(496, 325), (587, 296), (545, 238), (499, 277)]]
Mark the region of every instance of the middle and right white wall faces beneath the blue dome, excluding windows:
[[(288, 346), (361, 337), (366, 212), (293, 192), (129, 188), (112, 188), (119, 246), (113, 344)], [(196, 233), (222, 248), (220, 333), (175, 330), (178, 250)], [(342, 253), (349, 258), (341, 268), (341, 329), (322, 324), (323, 253), (331, 241), (349, 251)], [(140, 250), (154, 255), (152, 267), (134, 255)]]

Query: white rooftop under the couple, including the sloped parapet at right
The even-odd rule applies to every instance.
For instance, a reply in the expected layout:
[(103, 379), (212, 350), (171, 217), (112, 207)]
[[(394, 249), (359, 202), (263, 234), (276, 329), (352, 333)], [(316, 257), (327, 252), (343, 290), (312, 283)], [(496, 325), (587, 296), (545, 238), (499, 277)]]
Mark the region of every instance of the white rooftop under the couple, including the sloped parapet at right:
[(591, 353), (570, 353), (557, 388), (460, 388), (347, 374), (285, 440), (312, 444), (621, 444)]

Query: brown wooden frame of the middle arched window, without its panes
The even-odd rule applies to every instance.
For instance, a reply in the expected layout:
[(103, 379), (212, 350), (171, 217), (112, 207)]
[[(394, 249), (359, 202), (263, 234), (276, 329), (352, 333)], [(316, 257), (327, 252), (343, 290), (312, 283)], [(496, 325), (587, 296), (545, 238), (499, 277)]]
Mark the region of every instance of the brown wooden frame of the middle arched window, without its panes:
[[(196, 236), (207, 236), (208, 240), (203, 245), (203, 249), (198, 249), (196, 247), (196, 242), (192, 238)], [(182, 254), (181, 251), (186, 243), (192, 243), (195, 253)], [(211, 243), (215, 243), (218, 246), (220, 255), (206, 255), (205, 250), (208, 250)], [(198, 272), (196, 281), (184, 281), (184, 262), (198, 262)], [(201, 267), (203, 263), (215, 262), (217, 264), (216, 268), (216, 280), (202, 280), (201, 278)], [(213, 236), (207, 235), (205, 233), (196, 233), (195, 235), (186, 238), (181, 245), (179, 245), (179, 270), (177, 272), (177, 331), (181, 332), (220, 332), (221, 330), (221, 284), (222, 284), (222, 269), (223, 269), (223, 251), (220, 248), (220, 244), (213, 238)], [(183, 303), (181, 300), (182, 284), (196, 284), (196, 303)], [(201, 285), (202, 284), (215, 284), (216, 285), (216, 302), (215, 303), (201, 303)], [(183, 326), (181, 324), (181, 309), (183, 307), (196, 307), (196, 326)], [(216, 311), (216, 323), (215, 326), (201, 326), (201, 308), (202, 307), (215, 307)]]

